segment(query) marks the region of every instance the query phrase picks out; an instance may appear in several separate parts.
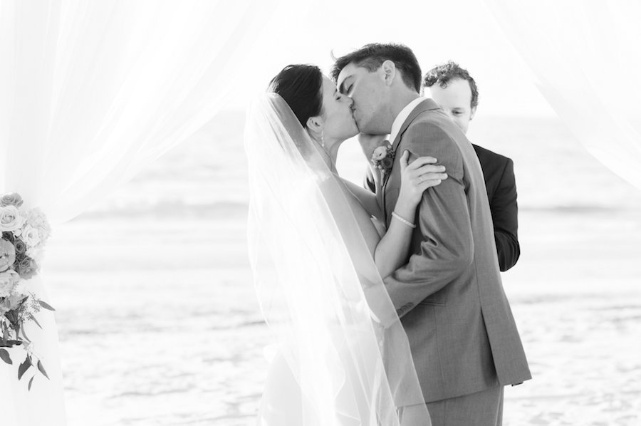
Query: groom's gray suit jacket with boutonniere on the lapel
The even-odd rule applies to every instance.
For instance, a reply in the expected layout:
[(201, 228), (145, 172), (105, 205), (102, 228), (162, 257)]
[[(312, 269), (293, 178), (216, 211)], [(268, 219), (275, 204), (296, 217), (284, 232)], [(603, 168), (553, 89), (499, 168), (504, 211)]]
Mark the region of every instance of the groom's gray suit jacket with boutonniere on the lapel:
[[(426, 402), (531, 378), (505, 296), (483, 172), (465, 135), (426, 99), (403, 123), (380, 206), (389, 227), (400, 157), (436, 157), (449, 177), (423, 194), (410, 258), (385, 286), (410, 340)], [(412, 218), (407, 218), (412, 219)], [(393, 362), (393, 360), (390, 360)], [(402, 399), (402, 398), (400, 398)], [(407, 405), (397, 400), (397, 405)]]

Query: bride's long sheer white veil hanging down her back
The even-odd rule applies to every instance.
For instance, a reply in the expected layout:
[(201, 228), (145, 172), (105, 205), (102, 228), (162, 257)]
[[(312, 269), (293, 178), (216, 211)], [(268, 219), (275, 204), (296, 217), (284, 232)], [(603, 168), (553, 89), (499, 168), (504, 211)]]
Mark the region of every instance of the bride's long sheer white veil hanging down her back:
[[(302, 395), (284, 398), (301, 413), (292, 424), (398, 425), (395, 400), (423, 407), (424, 400), (407, 336), (342, 182), (274, 93), (252, 103), (245, 149), (256, 291)], [(427, 409), (424, 419), (429, 425)]]

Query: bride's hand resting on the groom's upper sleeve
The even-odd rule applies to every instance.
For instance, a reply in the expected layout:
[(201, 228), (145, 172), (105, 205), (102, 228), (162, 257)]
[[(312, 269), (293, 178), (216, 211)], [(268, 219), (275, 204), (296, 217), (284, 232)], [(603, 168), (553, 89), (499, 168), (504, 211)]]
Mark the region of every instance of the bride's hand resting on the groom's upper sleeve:
[(416, 207), (421, 201), (423, 192), (427, 188), (435, 187), (447, 179), (445, 167), (437, 165), (434, 157), (418, 157), (409, 162), (410, 152), (405, 150), (400, 158), (401, 187), (398, 194), (398, 203), (407, 204), (407, 207)]

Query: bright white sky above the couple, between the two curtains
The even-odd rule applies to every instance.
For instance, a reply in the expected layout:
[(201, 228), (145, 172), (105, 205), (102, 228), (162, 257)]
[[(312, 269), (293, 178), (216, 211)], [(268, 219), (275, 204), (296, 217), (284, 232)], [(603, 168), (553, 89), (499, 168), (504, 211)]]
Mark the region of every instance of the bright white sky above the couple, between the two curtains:
[(412, 48), (423, 73), (448, 60), (467, 68), (479, 86), (477, 116), (554, 115), (481, 0), (310, 3), (287, 24), (266, 25), (247, 52), (251, 66), (242, 72), (242, 87), (234, 90), (229, 108), (244, 108), (252, 93), (264, 90), (290, 63), (315, 63), (328, 72), (332, 51), (340, 56), (366, 43), (396, 42)]

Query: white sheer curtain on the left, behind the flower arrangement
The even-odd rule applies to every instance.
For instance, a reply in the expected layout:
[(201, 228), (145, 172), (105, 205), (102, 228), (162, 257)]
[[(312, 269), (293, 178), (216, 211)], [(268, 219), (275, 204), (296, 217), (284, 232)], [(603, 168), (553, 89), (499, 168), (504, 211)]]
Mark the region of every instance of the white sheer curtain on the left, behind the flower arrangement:
[[(0, 192), (54, 224), (83, 212), (212, 118), (283, 3), (0, 0)], [(39, 278), (30, 286), (48, 300)], [(28, 393), (13, 348), (2, 425), (65, 424), (56, 324), (48, 311), (38, 321), (27, 333), (51, 380)]]

